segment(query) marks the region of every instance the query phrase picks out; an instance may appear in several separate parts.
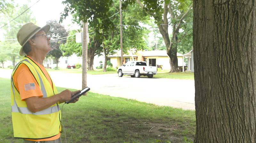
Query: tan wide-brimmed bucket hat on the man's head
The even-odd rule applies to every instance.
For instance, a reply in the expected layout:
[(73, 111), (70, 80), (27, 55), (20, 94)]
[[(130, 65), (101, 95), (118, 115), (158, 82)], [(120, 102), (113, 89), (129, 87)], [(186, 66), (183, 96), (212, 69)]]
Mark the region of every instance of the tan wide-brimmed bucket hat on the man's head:
[(20, 56), (26, 55), (26, 53), (23, 51), (23, 47), (29, 39), (31, 39), (40, 30), (44, 30), (45, 34), (47, 34), (49, 29), (50, 29), (50, 25), (45, 25), (44, 27), (41, 28), (39, 26), (36, 26), (32, 22), (29, 22), (29, 23), (23, 25), (20, 28), (19, 32), (17, 33), (17, 40), (20, 43), (20, 45), (22, 46), (20, 49)]

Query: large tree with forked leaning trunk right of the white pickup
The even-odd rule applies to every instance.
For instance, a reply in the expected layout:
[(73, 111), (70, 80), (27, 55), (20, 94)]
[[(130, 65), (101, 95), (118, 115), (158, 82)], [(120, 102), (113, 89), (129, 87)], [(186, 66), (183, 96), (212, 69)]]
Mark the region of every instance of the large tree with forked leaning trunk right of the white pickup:
[[(167, 55), (170, 57), (170, 72), (178, 71), (177, 44), (180, 25), (186, 20), (186, 15), (192, 7), (191, 0), (127, 0), (125, 5), (138, 3), (144, 14), (148, 14), (155, 19), (160, 33), (163, 36)], [(189, 6), (190, 5), (190, 6)], [(167, 15), (170, 14), (170, 19)], [(169, 37), (168, 27), (172, 25), (172, 36)]]

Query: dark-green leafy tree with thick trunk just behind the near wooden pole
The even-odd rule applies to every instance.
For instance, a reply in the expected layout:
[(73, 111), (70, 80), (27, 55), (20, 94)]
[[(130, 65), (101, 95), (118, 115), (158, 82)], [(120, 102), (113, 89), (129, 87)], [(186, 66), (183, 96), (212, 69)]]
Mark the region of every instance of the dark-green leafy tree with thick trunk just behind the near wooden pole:
[[(93, 70), (93, 59), (94, 55), (102, 51), (102, 33), (107, 33), (108, 29), (114, 29), (113, 22), (109, 19), (112, 13), (110, 13), (109, 8), (111, 7), (113, 1), (105, 0), (81, 0), (73, 1), (66, 0), (63, 2), (67, 4), (66, 8), (62, 12), (60, 21), (68, 16), (70, 12), (74, 17), (74, 21), (80, 25), (81, 22), (89, 23), (91, 30), (95, 32), (93, 35), (89, 35), (90, 43), (88, 44), (88, 67), (89, 70)], [(90, 31), (91, 31), (90, 30)], [(90, 32), (89, 31), (89, 32)], [(104, 32), (103, 32), (104, 31)]]

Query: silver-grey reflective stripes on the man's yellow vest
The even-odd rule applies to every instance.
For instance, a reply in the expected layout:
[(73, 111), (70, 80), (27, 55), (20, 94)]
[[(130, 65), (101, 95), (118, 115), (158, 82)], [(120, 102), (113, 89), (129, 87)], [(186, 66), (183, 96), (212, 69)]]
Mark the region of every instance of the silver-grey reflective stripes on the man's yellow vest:
[[(14, 69), (16, 69), (16, 67), (22, 63), (23, 61), (26, 61), (28, 62), (29, 64), (31, 64), (27, 59), (24, 59), (22, 61), (20, 61), (15, 67)], [(33, 66), (33, 64), (31, 64)], [(35, 70), (37, 72), (37, 70)], [(47, 94), (46, 94), (46, 90), (45, 90), (45, 87), (44, 87), (44, 83), (43, 83), (43, 80), (41, 78), (41, 76), (39, 75), (39, 73), (37, 72), (37, 75), (39, 77), (39, 80), (40, 80), (40, 85), (41, 85), (41, 91), (43, 93), (43, 98), (47, 97)], [(11, 85), (12, 85), (12, 92), (13, 92), (13, 106), (12, 106), (12, 112), (19, 112), (21, 114), (33, 114), (33, 115), (44, 115), (44, 114), (51, 114), (51, 113), (55, 113), (55, 112), (58, 112), (59, 111), (59, 106), (56, 105), (56, 106), (53, 106), (53, 107), (49, 107), (47, 109), (44, 109), (44, 110), (41, 110), (41, 111), (38, 111), (36, 113), (33, 113), (31, 111), (29, 111), (29, 109), (27, 107), (18, 107), (17, 106), (17, 103), (15, 101), (15, 93), (14, 93), (14, 85), (13, 85), (13, 80), (11, 78)]]

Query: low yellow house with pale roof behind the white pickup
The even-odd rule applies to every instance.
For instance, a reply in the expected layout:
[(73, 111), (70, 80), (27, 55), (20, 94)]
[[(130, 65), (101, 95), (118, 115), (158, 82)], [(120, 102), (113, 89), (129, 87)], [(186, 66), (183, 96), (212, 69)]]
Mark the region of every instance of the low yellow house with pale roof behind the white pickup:
[[(128, 61), (145, 61), (149, 66), (162, 67), (162, 69), (170, 69), (170, 58), (166, 53), (166, 50), (155, 50), (155, 51), (137, 51), (135, 55), (123, 55), (123, 63), (121, 64), (120, 52), (118, 54), (109, 55), (108, 60), (113, 64), (113, 67), (121, 66)], [(177, 53), (178, 66), (182, 68), (183, 56)]]

